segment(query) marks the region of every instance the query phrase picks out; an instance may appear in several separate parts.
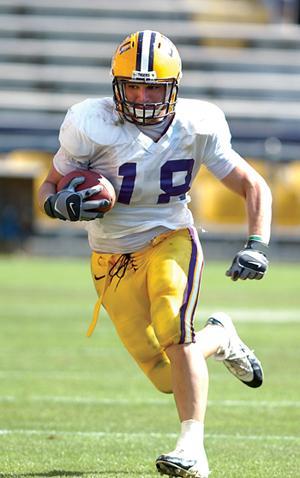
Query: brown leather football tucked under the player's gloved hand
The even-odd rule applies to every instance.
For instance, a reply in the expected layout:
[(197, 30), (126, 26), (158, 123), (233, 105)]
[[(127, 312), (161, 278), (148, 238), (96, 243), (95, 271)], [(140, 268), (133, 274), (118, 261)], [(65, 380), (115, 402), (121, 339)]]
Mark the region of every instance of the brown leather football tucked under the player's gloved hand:
[(97, 173), (96, 171), (92, 171), (90, 169), (87, 169), (87, 170), (76, 169), (74, 171), (71, 171), (70, 173), (66, 174), (63, 178), (61, 178), (61, 180), (59, 181), (57, 185), (57, 191), (61, 191), (70, 183), (70, 181), (73, 178), (77, 178), (80, 176), (83, 176), (85, 178), (85, 181), (76, 187), (76, 191), (81, 191), (82, 189), (90, 188), (92, 186), (96, 186), (97, 184), (101, 184), (101, 186), (103, 186), (102, 191), (99, 193), (93, 194), (88, 199), (89, 200), (107, 199), (108, 201), (110, 201), (109, 205), (106, 207), (100, 207), (97, 210), (100, 212), (110, 211), (110, 209), (113, 208), (116, 202), (116, 193), (115, 193), (114, 187), (107, 178), (102, 176), (102, 174)]

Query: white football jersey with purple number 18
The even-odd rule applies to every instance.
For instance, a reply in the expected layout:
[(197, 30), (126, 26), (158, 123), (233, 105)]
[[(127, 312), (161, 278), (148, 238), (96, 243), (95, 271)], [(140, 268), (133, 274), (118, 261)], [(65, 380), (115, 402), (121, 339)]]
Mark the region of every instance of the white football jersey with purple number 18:
[(87, 99), (70, 108), (59, 140), (60, 174), (92, 169), (115, 188), (113, 209), (87, 223), (98, 252), (131, 252), (157, 233), (191, 226), (188, 192), (201, 165), (222, 179), (241, 160), (222, 111), (200, 100), (179, 99), (172, 123), (154, 142), (120, 120), (111, 98)]

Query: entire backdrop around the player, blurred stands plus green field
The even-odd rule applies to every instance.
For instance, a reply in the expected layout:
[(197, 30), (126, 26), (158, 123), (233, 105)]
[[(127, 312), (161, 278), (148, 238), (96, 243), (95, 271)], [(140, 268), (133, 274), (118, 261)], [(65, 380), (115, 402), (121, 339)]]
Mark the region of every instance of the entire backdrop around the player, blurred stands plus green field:
[(209, 362), (213, 476), (299, 477), (299, 2), (0, 0), (0, 478), (155, 478), (177, 436), (172, 397), (137, 371), (103, 307), (86, 339), (96, 301), (86, 232), (36, 202), (68, 107), (112, 94), (111, 56), (142, 29), (178, 46), (181, 96), (224, 110), (234, 148), (274, 197), (270, 271), (233, 284), (243, 202), (205, 170), (191, 191), (209, 259), (196, 327), (229, 313), (266, 377), (253, 394)]

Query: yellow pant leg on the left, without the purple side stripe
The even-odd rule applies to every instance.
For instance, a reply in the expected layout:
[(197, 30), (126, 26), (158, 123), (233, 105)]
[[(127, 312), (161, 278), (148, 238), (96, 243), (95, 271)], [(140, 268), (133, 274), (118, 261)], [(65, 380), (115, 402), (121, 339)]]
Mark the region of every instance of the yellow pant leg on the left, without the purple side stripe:
[[(92, 274), (98, 295), (105, 277), (116, 270), (121, 256), (93, 254)], [(162, 350), (150, 322), (150, 303), (146, 288), (147, 251), (140, 254), (139, 263), (126, 266), (124, 276), (110, 277), (105, 287), (103, 306), (107, 310), (124, 346), (138, 366), (161, 392), (171, 393), (170, 361)], [(118, 277), (119, 276), (119, 277)], [(96, 279), (95, 279), (96, 277)], [(97, 279), (98, 278), (98, 279)], [(99, 279), (102, 278), (102, 279)]]

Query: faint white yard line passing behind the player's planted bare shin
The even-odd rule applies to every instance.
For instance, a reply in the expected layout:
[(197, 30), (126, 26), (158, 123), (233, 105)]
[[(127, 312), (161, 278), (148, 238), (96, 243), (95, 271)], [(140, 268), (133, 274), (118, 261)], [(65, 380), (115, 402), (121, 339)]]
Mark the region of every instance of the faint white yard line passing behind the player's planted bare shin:
[[(142, 398), (93, 398), (79, 396), (59, 395), (33, 395), (28, 397), (16, 397), (12, 395), (1, 396), (0, 402), (50, 402), (74, 405), (170, 405), (173, 399), (142, 399)], [(254, 408), (299, 408), (299, 400), (209, 400), (208, 405), (212, 407), (254, 407)]]

